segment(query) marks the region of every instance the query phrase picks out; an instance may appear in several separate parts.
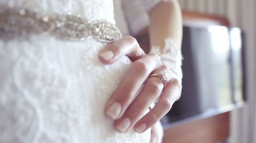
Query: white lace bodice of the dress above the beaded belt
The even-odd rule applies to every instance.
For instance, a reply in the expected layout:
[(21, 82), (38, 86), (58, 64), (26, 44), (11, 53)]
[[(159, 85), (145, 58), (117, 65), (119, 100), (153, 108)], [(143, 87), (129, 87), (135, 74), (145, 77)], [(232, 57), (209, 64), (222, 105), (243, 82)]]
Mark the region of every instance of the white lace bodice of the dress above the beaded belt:
[(89, 22), (105, 19), (115, 24), (112, 0), (9, 0), (0, 1), (0, 5), (29, 9), (45, 16), (72, 12)]

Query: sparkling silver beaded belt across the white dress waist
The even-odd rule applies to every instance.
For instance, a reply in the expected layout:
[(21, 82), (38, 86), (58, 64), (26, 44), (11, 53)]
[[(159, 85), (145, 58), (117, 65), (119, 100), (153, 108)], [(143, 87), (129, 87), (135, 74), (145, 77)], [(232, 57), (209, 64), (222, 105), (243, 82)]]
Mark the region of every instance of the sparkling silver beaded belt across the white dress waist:
[(0, 19), (2, 39), (33, 39), (34, 36), (44, 33), (72, 41), (95, 38), (113, 42), (122, 37), (118, 28), (106, 20), (88, 22), (71, 12), (44, 16), (26, 9), (0, 7)]

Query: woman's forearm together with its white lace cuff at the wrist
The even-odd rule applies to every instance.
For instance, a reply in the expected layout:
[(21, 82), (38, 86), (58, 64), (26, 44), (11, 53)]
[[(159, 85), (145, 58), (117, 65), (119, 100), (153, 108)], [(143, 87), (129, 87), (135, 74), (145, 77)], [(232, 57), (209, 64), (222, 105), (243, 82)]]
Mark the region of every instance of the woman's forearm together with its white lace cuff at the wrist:
[(160, 56), (162, 64), (170, 69), (171, 77), (181, 86), (182, 18), (178, 2), (160, 2), (151, 11), (150, 20), (150, 52)]

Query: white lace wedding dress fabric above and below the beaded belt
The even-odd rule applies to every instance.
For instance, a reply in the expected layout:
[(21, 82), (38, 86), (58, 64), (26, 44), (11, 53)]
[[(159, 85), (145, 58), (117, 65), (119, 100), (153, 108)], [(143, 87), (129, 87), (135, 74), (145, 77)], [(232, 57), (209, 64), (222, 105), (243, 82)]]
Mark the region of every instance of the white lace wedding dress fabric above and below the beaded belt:
[[(115, 23), (112, 0), (1, 0), (0, 5)], [(149, 142), (150, 129), (119, 133), (103, 112), (131, 64), (123, 56), (103, 65), (98, 52), (105, 45), (95, 38), (72, 41), (49, 33), (0, 39), (0, 142)]]

